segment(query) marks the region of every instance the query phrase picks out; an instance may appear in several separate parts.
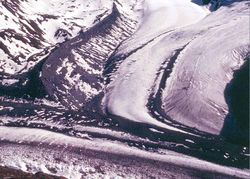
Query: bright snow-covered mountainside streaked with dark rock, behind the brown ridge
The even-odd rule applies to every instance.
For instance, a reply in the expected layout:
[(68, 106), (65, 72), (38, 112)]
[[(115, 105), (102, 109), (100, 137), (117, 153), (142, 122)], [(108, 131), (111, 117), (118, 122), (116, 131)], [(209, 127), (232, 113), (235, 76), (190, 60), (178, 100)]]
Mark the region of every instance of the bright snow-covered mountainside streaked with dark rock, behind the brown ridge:
[[(107, 15), (112, 1), (11, 1), (0, 3), (1, 73), (25, 72), (54, 46)], [(44, 52), (46, 53), (46, 52)]]

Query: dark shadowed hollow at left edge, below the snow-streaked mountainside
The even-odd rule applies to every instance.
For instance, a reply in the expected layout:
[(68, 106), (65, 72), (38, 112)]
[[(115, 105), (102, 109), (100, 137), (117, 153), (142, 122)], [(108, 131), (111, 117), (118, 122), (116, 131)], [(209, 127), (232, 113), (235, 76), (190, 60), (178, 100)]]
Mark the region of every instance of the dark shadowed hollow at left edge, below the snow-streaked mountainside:
[(47, 59), (46, 56), (55, 48), (45, 48), (41, 53), (30, 56), (27, 61), (28, 63), (32, 61), (34, 64), (26, 65), (19, 72), (8, 74), (0, 70), (0, 95), (24, 99), (47, 98), (48, 95), (40, 79), (40, 74), (42, 65)]

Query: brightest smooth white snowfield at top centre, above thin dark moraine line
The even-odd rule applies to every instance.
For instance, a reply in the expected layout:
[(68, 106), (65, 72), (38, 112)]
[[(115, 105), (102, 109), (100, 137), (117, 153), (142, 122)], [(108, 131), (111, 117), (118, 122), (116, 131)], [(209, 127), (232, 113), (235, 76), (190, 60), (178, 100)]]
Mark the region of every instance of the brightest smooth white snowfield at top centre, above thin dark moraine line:
[(143, 9), (141, 26), (128, 40), (130, 43), (123, 44), (128, 45), (127, 48), (143, 44), (166, 31), (194, 24), (209, 13), (208, 9), (190, 0), (145, 0)]

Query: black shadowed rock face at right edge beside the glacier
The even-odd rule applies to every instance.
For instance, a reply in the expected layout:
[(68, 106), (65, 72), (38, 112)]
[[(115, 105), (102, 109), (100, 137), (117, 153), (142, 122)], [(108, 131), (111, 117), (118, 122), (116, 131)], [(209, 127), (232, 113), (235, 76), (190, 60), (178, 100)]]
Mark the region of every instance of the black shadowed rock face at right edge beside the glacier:
[(231, 142), (249, 146), (249, 58), (225, 89), (229, 114), (221, 135)]

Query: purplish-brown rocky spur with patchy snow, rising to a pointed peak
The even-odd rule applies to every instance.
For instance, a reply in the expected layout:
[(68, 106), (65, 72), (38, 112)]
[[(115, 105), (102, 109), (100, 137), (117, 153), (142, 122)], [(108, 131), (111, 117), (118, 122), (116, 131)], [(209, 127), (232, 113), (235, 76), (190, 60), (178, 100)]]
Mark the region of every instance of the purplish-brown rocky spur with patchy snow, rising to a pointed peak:
[(110, 15), (49, 56), (41, 77), (47, 92), (73, 110), (93, 103), (102, 93), (105, 61), (136, 23), (114, 4)]

